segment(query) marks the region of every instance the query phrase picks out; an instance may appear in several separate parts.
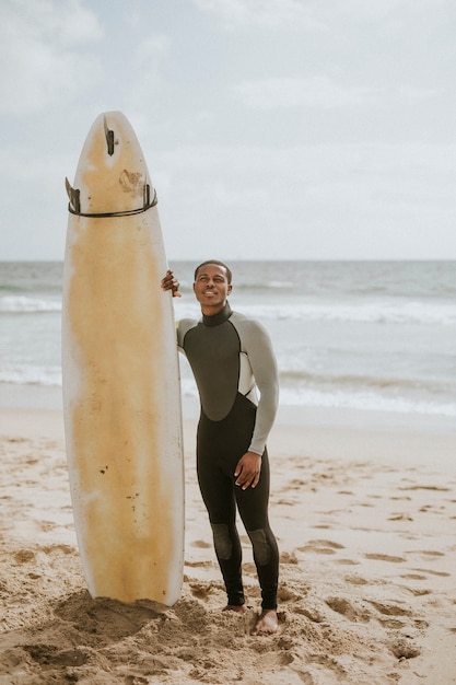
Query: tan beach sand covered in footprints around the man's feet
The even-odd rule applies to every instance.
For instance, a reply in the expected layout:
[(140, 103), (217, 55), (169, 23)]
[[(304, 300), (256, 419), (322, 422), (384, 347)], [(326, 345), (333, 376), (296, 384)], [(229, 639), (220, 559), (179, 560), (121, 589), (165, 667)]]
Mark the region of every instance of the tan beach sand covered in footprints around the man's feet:
[(61, 413), (0, 409), (0, 685), (456, 683), (456, 433), (283, 408), (270, 437), (280, 626), (225, 596), (185, 422), (186, 564), (171, 608), (87, 594)]

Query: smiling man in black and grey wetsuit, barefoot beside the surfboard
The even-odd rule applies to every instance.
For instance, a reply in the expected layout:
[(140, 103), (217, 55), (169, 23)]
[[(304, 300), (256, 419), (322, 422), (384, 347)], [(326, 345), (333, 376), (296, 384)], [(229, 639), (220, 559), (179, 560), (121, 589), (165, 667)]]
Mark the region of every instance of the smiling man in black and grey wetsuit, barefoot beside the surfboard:
[[(266, 440), (278, 404), (277, 364), (264, 327), (231, 310), (231, 281), (232, 274), (222, 262), (211, 259), (197, 267), (194, 292), (202, 317), (178, 323), (177, 344), (190, 363), (200, 396), (198, 483), (225, 582), (225, 611), (246, 611), (237, 506), (261, 588), (262, 611), (253, 632), (270, 635), (278, 629), (279, 550), (268, 521)], [(162, 288), (180, 297), (171, 270)]]

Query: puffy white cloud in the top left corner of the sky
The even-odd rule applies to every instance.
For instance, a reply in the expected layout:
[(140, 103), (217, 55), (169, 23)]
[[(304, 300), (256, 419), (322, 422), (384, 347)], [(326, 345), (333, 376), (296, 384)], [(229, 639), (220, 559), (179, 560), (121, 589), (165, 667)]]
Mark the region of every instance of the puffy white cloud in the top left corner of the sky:
[(80, 48), (101, 37), (96, 16), (79, 0), (2, 0), (0, 114), (31, 114), (79, 96), (102, 71)]

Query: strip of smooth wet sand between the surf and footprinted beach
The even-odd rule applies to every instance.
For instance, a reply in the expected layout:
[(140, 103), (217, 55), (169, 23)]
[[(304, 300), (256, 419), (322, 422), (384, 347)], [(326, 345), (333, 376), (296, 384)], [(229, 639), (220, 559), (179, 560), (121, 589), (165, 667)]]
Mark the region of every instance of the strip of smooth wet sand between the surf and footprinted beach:
[[(0, 433), (10, 429), (27, 436), (52, 432), (65, 442), (62, 408), (4, 406), (0, 402)], [(184, 448), (192, 450), (198, 403), (183, 403)], [(456, 427), (446, 417), (385, 415), (327, 408), (279, 407), (269, 437), (269, 451), (307, 452), (317, 458), (371, 458), (398, 466), (430, 466), (456, 473)], [(406, 451), (404, 448), (406, 446)], [(412, 452), (412, 454), (410, 454)], [(439, 458), (435, 458), (435, 454)], [(433, 456), (434, 455), (434, 456)], [(398, 461), (399, 460), (399, 461)]]

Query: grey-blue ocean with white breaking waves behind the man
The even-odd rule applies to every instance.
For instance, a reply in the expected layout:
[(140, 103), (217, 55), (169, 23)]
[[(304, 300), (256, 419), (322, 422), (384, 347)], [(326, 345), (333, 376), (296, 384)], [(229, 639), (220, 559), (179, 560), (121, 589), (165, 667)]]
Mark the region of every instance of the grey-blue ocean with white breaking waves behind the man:
[[(183, 293), (176, 318), (199, 315), (195, 266), (171, 264)], [(456, 417), (455, 262), (230, 267), (232, 307), (272, 338), (281, 405)], [(2, 404), (21, 387), (38, 403), (39, 388), (60, 387), (61, 286), (61, 263), (0, 263)], [(188, 363), (180, 365), (183, 394), (196, 397)]]

